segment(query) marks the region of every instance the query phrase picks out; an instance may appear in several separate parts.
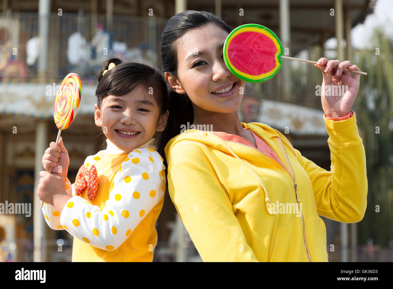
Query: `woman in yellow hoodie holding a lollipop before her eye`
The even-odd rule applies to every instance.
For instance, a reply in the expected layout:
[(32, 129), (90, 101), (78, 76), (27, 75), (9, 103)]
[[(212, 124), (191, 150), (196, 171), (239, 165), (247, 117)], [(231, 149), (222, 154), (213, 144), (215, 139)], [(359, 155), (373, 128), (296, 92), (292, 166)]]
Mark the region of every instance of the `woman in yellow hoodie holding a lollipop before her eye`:
[[(184, 11), (161, 35), (162, 66), (171, 87), (163, 144), (168, 190), (204, 261), (327, 261), (318, 215), (343, 223), (366, 208), (365, 151), (351, 107), (359, 70), (321, 58), (323, 120), (332, 171), (320, 168), (264, 123), (242, 123), (244, 81), (226, 67), (231, 29), (207, 12)], [(337, 75), (333, 75), (337, 73)], [(347, 85), (343, 96), (325, 96)], [(187, 122), (211, 131), (189, 129)]]

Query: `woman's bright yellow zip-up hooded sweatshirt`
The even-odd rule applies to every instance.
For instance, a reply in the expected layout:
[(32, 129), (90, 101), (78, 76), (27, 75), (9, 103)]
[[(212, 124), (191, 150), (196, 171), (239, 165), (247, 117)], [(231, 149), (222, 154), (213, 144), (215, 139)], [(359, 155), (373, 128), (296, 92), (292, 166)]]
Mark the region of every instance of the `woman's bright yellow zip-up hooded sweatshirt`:
[(323, 117), (331, 171), (264, 123), (242, 123), (279, 156), (188, 129), (165, 146), (169, 195), (203, 261), (328, 261), (323, 220), (356, 223), (367, 205), (356, 115)]

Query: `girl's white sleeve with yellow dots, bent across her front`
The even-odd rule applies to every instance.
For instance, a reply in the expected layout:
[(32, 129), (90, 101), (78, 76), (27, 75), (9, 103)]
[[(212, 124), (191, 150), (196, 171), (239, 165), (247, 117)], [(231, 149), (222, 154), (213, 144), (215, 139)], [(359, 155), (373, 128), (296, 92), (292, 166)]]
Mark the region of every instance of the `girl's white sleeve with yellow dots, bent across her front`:
[(132, 151), (113, 179), (103, 210), (73, 196), (64, 206), (60, 223), (74, 237), (94, 247), (117, 249), (162, 199), (164, 169), (158, 152), (147, 148)]

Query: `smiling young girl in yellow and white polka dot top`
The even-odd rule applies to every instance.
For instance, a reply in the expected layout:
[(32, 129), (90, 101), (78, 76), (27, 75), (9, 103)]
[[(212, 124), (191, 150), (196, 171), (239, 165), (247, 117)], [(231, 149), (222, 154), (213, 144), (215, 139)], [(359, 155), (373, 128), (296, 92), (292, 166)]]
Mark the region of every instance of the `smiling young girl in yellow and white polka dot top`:
[(98, 81), (94, 118), (107, 149), (88, 156), (71, 184), (64, 143), (52, 142), (37, 192), (42, 213), (74, 236), (72, 261), (152, 261), (165, 192), (154, 138), (168, 117), (165, 79), (146, 64), (109, 59)]

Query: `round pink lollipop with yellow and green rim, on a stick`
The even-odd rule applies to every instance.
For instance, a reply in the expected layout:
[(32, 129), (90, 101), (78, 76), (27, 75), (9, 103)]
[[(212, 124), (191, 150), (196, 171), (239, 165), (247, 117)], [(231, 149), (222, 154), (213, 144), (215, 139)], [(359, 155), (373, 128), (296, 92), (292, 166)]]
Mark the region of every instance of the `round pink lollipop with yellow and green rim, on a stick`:
[[(283, 56), (283, 46), (278, 37), (259, 24), (244, 24), (233, 29), (224, 43), (226, 66), (232, 74), (247, 82), (261, 83), (272, 78), (281, 68), (281, 59), (317, 64), (315, 61)], [(353, 72), (367, 75), (361, 71)]]

